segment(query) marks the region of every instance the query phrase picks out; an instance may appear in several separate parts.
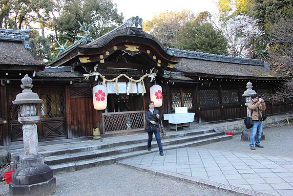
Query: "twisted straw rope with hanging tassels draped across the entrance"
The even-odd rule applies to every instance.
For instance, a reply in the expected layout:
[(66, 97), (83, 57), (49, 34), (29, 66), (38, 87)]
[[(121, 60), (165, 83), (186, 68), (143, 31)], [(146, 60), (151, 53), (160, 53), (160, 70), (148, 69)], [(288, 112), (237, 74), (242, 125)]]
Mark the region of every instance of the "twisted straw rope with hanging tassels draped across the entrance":
[(103, 76), (101, 73), (95, 71), (95, 72), (92, 72), (92, 73), (89, 73), (89, 74), (84, 74), (85, 76), (85, 80), (88, 80), (88, 78), (90, 76), (96, 76), (96, 75), (99, 75), (102, 79), (103, 79), (103, 83), (102, 85), (106, 87), (106, 82), (114, 82), (115, 81), (115, 92), (118, 93), (119, 92), (119, 88), (118, 88), (118, 79), (121, 78), (122, 76), (126, 77), (129, 81), (130, 81), (130, 92), (132, 92), (132, 82), (135, 82), (135, 83), (139, 83), (141, 82), (142, 84), (142, 87), (143, 87), (143, 93), (142, 95), (144, 95), (146, 93), (146, 87), (145, 87), (145, 83), (144, 83), (144, 79), (147, 77), (147, 76), (153, 76), (153, 77), (156, 77), (156, 72), (154, 73), (146, 73), (145, 75), (143, 75), (142, 77), (140, 77), (138, 80), (134, 80), (132, 77), (129, 77), (127, 76), (125, 73), (122, 73), (120, 74), (119, 76), (117, 76), (116, 78), (113, 78), (113, 79), (106, 79), (105, 76)]

